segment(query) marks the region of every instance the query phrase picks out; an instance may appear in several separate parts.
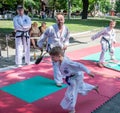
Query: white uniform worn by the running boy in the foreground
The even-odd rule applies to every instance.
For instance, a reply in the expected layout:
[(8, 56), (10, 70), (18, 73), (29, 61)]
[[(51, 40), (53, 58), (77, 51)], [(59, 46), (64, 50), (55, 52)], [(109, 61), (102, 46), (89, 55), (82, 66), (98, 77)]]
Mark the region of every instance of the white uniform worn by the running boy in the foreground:
[(83, 72), (90, 73), (90, 71), (81, 63), (71, 61), (67, 57), (59, 64), (60, 71), (64, 78), (68, 77), (68, 88), (65, 96), (61, 101), (63, 109), (75, 110), (78, 93), (86, 95), (89, 91), (95, 88), (94, 85), (85, 83), (83, 81)]

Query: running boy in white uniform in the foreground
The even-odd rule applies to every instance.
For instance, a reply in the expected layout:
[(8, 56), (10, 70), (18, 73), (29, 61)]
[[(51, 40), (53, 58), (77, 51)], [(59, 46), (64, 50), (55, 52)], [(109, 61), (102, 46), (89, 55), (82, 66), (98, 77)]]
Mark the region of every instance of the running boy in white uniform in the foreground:
[(69, 110), (69, 113), (75, 113), (78, 93), (86, 95), (91, 90), (98, 92), (98, 86), (83, 81), (83, 72), (86, 72), (91, 77), (94, 77), (94, 74), (83, 64), (74, 62), (65, 57), (64, 51), (59, 46), (53, 47), (49, 53), (54, 62), (59, 62), (60, 72), (68, 83), (68, 88), (61, 101), (61, 106), (63, 109)]

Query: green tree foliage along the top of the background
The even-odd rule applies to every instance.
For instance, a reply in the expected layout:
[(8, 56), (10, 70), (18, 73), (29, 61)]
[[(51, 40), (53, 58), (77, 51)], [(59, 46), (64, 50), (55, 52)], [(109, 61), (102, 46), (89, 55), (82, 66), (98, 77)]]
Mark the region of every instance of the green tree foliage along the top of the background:
[[(68, 2), (70, 2), (70, 6), (68, 5)], [(118, 5), (116, 4), (116, 10), (119, 10), (119, 2), (120, 0), (117, 2)], [(41, 0), (0, 0), (0, 9), (1, 11), (16, 10), (17, 4), (23, 4), (25, 9), (41, 10)], [(81, 12), (83, 19), (87, 19), (88, 13), (93, 12), (96, 6), (103, 13), (109, 12), (112, 8), (110, 0), (48, 0), (47, 4), (51, 10), (67, 11), (71, 8), (71, 12)]]

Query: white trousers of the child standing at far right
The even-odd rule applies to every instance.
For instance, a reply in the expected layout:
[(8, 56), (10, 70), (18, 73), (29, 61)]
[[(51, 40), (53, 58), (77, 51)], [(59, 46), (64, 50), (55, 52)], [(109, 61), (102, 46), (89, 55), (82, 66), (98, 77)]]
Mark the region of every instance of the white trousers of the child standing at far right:
[(115, 59), (114, 47), (112, 46), (112, 44), (110, 45), (111, 46), (109, 47), (109, 44), (106, 41), (101, 41), (102, 52), (100, 54), (99, 62), (105, 62), (105, 53), (107, 52), (107, 50), (109, 50), (111, 59)]

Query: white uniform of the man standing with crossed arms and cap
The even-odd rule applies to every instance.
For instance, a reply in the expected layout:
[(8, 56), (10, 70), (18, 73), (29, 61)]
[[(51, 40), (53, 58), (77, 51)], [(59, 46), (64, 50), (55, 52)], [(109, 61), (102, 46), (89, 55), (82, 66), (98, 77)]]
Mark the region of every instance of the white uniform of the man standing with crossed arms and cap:
[(31, 28), (31, 19), (27, 15), (17, 15), (13, 19), (14, 29), (16, 31), (15, 46), (17, 65), (22, 64), (23, 52), (25, 53), (25, 63), (30, 63), (30, 37), (29, 29)]

